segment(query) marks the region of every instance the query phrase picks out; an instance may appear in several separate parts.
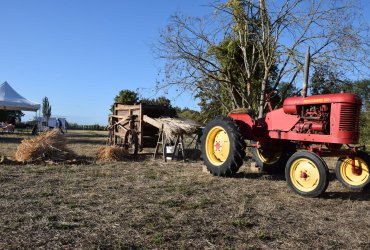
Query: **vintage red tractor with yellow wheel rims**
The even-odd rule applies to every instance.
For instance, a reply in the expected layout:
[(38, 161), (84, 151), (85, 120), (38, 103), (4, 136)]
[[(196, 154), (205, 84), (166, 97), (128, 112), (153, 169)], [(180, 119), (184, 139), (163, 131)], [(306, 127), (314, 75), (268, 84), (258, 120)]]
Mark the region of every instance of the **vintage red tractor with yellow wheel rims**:
[(289, 187), (299, 195), (317, 197), (328, 187), (329, 171), (322, 157), (338, 157), (335, 173), (344, 186), (361, 190), (369, 185), (370, 156), (364, 147), (350, 146), (359, 140), (357, 95), (290, 97), (275, 110), (268, 96), (267, 103), (270, 112), (264, 118), (239, 112), (206, 125), (202, 155), (213, 175), (236, 173), (246, 155), (245, 140), (251, 140), (256, 165), (268, 173), (285, 169)]

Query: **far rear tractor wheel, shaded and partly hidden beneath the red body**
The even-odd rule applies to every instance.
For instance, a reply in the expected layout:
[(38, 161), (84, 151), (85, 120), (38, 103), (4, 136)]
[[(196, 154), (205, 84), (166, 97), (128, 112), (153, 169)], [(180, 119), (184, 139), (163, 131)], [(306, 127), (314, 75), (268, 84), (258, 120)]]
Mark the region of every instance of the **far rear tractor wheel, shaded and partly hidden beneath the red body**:
[(285, 165), (291, 155), (296, 152), (292, 142), (265, 142), (252, 148), (253, 159), (261, 171), (269, 174), (284, 173)]

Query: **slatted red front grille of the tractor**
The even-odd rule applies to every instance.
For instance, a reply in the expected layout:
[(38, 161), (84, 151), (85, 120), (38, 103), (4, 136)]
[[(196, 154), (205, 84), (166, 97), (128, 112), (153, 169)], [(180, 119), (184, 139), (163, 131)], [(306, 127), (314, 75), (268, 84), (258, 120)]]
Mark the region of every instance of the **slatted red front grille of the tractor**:
[(340, 109), (339, 130), (358, 132), (360, 126), (360, 107), (357, 105), (342, 105)]

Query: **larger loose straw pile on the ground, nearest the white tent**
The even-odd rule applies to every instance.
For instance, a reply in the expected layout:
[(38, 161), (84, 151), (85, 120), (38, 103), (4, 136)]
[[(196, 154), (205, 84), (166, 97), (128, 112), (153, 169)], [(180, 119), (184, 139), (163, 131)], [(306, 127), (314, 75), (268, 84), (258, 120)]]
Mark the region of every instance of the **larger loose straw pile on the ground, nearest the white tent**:
[(18, 145), (17, 161), (65, 161), (75, 158), (76, 154), (67, 148), (67, 139), (58, 129), (48, 130), (40, 135), (24, 139)]

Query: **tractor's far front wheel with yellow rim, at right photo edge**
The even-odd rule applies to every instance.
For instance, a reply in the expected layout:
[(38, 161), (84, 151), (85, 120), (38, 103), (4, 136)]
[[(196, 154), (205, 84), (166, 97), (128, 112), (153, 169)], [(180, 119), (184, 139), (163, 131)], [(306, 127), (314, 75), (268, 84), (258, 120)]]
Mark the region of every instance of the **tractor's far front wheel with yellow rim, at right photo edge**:
[(355, 156), (355, 167), (352, 167), (350, 157), (339, 157), (335, 167), (337, 179), (345, 186), (353, 190), (361, 190), (370, 183), (370, 156), (358, 151)]

